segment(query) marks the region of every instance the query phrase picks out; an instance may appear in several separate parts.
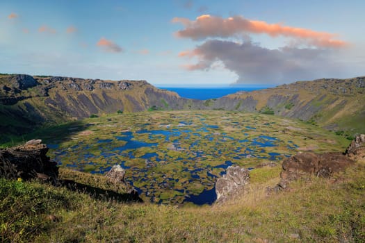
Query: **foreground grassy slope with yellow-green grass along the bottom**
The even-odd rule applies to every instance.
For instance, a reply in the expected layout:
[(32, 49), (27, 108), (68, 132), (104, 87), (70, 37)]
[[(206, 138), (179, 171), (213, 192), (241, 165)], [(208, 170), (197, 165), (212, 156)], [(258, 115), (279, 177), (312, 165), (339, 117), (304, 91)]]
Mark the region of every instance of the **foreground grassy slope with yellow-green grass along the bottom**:
[[(179, 208), (98, 201), (38, 183), (1, 179), (7, 242), (363, 242), (365, 161), (334, 180), (298, 181), (266, 195), (279, 167), (257, 169), (250, 190), (225, 206)], [(48, 215), (57, 220), (49, 220)]]

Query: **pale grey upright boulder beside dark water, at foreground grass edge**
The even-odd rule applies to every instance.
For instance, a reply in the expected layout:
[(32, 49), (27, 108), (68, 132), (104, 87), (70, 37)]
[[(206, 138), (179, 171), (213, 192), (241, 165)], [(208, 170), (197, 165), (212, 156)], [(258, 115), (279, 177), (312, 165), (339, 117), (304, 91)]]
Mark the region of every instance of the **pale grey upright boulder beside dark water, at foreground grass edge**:
[(216, 182), (217, 203), (223, 203), (241, 194), (250, 181), (248, 169), (238, 166), (227, 168), (227, 174)]

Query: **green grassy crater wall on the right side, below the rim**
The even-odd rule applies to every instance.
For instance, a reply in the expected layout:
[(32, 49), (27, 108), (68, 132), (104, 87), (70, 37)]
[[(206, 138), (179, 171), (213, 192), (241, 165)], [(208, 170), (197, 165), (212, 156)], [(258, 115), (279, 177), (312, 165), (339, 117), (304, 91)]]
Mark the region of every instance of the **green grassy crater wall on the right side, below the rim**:
[[(258, 101), (256, 110), (268, 106), (275, 115), (300, 118), (330, 130), (347, 131), (353, 135), (365, 133), (365, 87), (358, 87), (358, 79), (364, 82), (364, 78), (300, 81), (266, 90), (231, 94), (228, 97), (253, 97)], [(270, 99), (275, 96), (281, 97), (282, 102), (273, 105)], [(319, 108), (318, 111), (316, 108)]]

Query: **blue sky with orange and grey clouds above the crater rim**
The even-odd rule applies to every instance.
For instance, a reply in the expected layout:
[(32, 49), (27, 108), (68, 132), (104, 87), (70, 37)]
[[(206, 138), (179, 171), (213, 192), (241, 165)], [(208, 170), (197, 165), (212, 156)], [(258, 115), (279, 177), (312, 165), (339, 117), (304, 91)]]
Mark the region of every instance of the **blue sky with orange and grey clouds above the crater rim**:
[(365, 1), (0, 1), (0, 72), (164, 87), (365, 75)]

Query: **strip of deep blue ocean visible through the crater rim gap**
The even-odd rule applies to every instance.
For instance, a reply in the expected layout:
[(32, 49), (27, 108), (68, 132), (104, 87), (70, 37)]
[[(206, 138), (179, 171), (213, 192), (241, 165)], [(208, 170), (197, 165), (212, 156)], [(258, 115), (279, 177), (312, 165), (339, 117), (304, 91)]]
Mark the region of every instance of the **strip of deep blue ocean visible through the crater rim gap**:
[(177, 92), (180, 97), (188, 99), (217, 99), (224, 97), (227, 94), (234, 94), (238, 91), (253, 91), (262, 90), (266, 87), (209, 87), (209, 88), (197, 88), (197, 87), (159, 87), (164, 90), (170, 90)]

